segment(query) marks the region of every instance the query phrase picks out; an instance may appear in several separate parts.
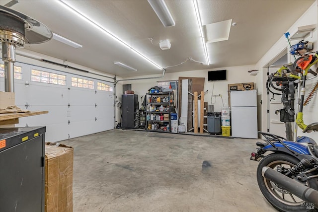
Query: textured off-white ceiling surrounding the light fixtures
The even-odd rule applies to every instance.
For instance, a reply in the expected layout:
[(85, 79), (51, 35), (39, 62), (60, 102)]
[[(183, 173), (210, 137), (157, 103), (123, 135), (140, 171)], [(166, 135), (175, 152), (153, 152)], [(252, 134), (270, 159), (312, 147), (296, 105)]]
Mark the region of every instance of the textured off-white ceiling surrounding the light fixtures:
[[(1, 0), (4, 5), (9, 0)], [(191, 57), (205, 63), (204, 50), (192, 0), (166, 0), (175, 26), (163, 27), (147, 0), (68, 0), (83, 14), (102, 25), (160, 67)], [(191, 71), (255, 64), (314, 0), (199, 0), (202, 24), (232, 19), (229, 40), (207, 43), (210, 66), (186, 62), (167, 72)], [(130, 49), (61, 6), (56, 0), (19, 0), (11, 7), (47, 25), (53, 32), (83, 46), (75, 49), (51, 40), (25, 49), (119, 76), (159, 74), (162, 71)], [(293, 11), (293, 12), (291, 12)], [(169, 39), (171, 49), (159, 44)], [(138, 71), (114, 65), (120, 61)]]

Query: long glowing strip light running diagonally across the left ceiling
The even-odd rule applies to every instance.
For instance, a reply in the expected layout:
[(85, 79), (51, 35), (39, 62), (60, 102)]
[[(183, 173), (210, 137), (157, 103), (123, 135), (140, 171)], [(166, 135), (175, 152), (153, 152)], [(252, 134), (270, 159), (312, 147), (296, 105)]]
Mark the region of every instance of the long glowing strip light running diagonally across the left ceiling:
[(89, 23), (90, 25), (96, 27), (97, 29), (99, 29), (100, 31), (102, 31), (104, 34), (108, 35), (109, 37), (113, 38), (115, 41), (117, 41), (118, 43), (122, 44), (123, 46), (129, 48), (130, 50), (132, 50), (133, 52), (135, 52), (136, 54), (138, 54), (139, 56), (141, 56), (142, 58), (144, 58), (146, 61), (150, 62), (152, 65), (156, 66), (157, 68), (159, 68), (160, 70), (162, 70), (161, 67), (159, 67), (159, 65), (157, 65), (155, 62), (153, 62), (152, 60), (150, 60), (148, 57), (146, 57), (145, 55), (141, 54), (139, 51), (135, 50), (133, 47), (131, 47), (130, 45), (128, 45), (125, 41), (121, 40), (120, 38), (118, 38), (117, 36), (115, 36), (114, 34), (110, 33), (107, 29), (105, 29), (102, 25), (98, 24), (96, 21), (92, 20), (90, 17), (88, 17), (87, 15), (85, 15), (83, 12), (77, 10), (76, 8), (74, 8), (69, 2), (65, 1), (65, 0), (59, 0), (58, 1), (62, 6), (64, 6), (66, 9), (68, 9), (69, 11), (73, 12), (74, 14), (76, 14), (79, 18), (83, 19), (84, 21), (86, 21), (87, 23)]

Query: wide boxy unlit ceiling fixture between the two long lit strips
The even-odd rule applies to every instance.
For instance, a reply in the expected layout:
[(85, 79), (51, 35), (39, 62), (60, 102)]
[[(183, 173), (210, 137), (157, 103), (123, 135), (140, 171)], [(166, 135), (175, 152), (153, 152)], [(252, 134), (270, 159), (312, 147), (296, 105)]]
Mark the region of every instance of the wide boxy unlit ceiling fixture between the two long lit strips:
[(164, 27), (175, 26), (173, 17), (164, 0), (148, 0)]

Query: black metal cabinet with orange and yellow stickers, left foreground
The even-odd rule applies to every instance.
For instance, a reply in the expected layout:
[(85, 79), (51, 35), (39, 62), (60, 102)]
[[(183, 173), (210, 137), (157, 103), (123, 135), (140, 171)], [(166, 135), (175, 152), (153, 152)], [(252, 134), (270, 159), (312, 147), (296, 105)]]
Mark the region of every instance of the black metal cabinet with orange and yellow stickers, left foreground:
[(0, 212), (44, 212), (45, 127), (0, 128)]

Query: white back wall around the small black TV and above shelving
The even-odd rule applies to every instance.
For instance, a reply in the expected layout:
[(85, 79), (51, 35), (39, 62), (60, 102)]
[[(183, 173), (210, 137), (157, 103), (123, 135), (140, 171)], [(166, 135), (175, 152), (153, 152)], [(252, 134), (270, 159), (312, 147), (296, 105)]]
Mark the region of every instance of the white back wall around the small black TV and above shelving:
[[(169, 69), (167, 69), (163, 78), (159, 79), (145, 79), (145, 80), (127, 80), (123, 81), (124, 84), (132, 84), (132, 90), (135, 91), (135, 94), (139, 95), (140, 97), (148, 92), (148, 89), (158, 85), (157, 81), (165, 81), (165, 80), (178, 80), (179, 76), (185, 77), (205, 77), (204, 83), (204, 91), (208, 90), (208, 93), (205, 94), (204, 100), (211, 104), (211, 95), (212, 95), (212, 88), (214, 83), (214, 90), (213, 94), (221, 94), (224, 105), (228, 106), (228, 84), (232, 83), (241, 83), (241, 82), (254, 82), (256, 83), (256, 77), (249, 75), (247, 71), (254, 70), (254, 65), (249, 66), (237, 66), (237, 67), (223, 67), (218, 69), (209, 69), (209, 70), (196, 70), (196, 71), (182, 71), (182, 72), (173, 72), (169, 73)], [(227, 70), (227, 80), (220, 80), (220, 81), (208, 81), (208, 71), (214, 70)], [(156, 75), (147, 75), (147, 76), (140, 76), (142, 77), (154, 77)], [(158, 74), (157, 76), (162, 76), (162, 74)], [(257, 84), (256, 84), (257, 87)], [(117, 96), (121, 93), (117, 92)], [(220, 97), (216, 97), (216, 103), (214, 104), (214, 111), (221, 111), (222, 100)], [(212, 100), (215, 102), (215, 98)], [(141, 105), (141, 102), (139, 103)]]

